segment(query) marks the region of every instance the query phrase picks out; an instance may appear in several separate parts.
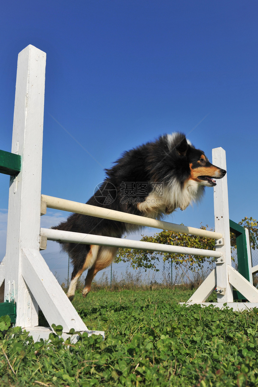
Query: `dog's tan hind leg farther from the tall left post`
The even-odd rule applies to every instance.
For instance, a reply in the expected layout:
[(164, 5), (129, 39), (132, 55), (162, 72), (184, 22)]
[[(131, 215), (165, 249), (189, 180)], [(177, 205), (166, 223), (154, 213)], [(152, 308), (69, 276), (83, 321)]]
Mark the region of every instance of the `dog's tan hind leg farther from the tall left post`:
[(87, 296), (89, 291), (91, 291), (91, 283), (97, 272), (102, 269), (105, 269), (113, 262), (116, 257), (117, 247), (101, 246), (97, 255), (97, 260), (95, 264), (88, 270), (87, 277), (85, 278), (85, 286), (82, 290), (82, 295)]

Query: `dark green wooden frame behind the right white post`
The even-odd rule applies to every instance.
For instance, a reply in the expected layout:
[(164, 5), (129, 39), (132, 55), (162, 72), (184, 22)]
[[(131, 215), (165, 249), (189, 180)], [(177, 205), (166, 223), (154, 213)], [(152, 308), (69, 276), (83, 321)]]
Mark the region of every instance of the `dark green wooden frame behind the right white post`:
[[(237, 271), (245, 278), (247, 281), (250, 281), (249, 277), (249, 267), (248, 267), (248, 253), (247, 253), (247, 244), (246, 244), (246, 235), (244, 227), (233, 222), (229, 219), (229, 228), (230, 231), (236, 235), (236, 250), (237, 250)], [(234, 291), (234, 298), (237, 300), (245, 300), (245, 297), (239, 293), (239, 291)]]

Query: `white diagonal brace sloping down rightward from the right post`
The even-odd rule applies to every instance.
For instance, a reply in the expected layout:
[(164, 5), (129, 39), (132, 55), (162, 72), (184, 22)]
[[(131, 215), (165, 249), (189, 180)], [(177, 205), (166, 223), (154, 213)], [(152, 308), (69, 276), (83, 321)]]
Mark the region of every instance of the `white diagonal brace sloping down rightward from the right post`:
[(258, 303), (258, 290), (247, 281), (231, 265), (228, 265), (229, 282), (236, 288), (249, 302)]

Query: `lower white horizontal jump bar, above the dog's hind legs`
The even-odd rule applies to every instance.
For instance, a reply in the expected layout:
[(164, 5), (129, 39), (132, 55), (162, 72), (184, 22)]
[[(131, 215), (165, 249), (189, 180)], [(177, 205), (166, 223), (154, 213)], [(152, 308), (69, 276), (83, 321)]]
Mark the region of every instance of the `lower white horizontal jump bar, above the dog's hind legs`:
[(62, 241), (72, 243), (82, 243), (84, 245), (113, 246), (122, 248), (136, 248), (138, 250), (159, 251), (162, 253), (178, 253), (189, 255), (201, 255), (202, 257), (222, 257), (222, 253), (205, 250), (202, 248), (191, 248), (174, 245), (162, 245), (160, 243), (135, 241), (130, 239), (112, 238), (111, 236), (73, 233), (71, 231), (53, 230), (41, 228), (40, 235), (51, 241)]

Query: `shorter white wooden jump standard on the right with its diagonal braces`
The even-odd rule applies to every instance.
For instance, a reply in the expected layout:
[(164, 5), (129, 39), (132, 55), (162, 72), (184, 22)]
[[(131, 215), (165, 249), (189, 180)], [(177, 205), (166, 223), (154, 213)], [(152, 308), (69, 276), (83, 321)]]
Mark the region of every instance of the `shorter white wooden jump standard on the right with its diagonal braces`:
[[(212, 149), (212, 163), (220, 168), (226, 167), (226, 152), (222, 148)], [(187, 301), (188, 305), (200, 303), (203, 306), (210, 305), (206, 303), (208, 296), (214, 288), (217, 288), (217, 303), (213, 305), (223, 308), (224, 303), (233, 310), (250, 309), (258, 307), (258, 291), (249, 283), (231, 264), (231, 244), (229, 231), (229, 204), (227, 193), (227, 175), (223, 179), (216, 181), (214, 187), (214, 217), (215, 231), (222, 233), (223, 240), (217, 240), (215, 244), (216, 252), (221, 252), (222, 257), (216, 259), (215, 269), (208, 275), (199, 288), (193, 293)], [(233, 302), (233, 289), (236, 288), (246, 297), (249, 303)]]

